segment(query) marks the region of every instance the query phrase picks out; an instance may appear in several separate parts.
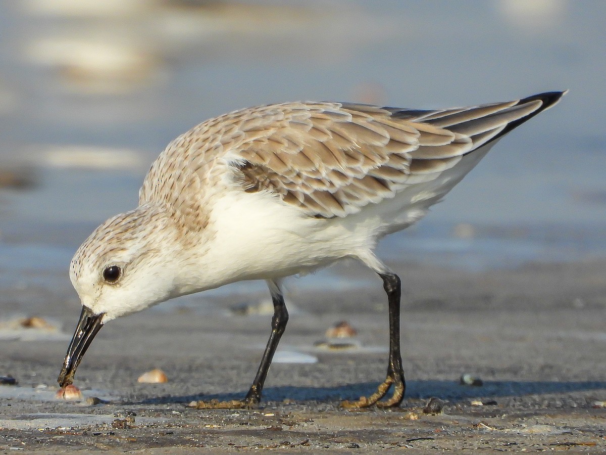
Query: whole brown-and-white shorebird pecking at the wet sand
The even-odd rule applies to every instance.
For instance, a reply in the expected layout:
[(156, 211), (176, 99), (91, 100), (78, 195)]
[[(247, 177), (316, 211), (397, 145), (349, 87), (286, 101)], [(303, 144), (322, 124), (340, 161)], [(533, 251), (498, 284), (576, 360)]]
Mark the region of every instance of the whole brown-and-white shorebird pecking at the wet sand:
[(101, 224), (73, 257), (82, 312), (59, 385), (73, 383), (110, 320), (179, 295), (266, 280), (274, 314), (250, 391), (197, 405), (254, 408), (288, 321), (282, 278), (356, 258), (383, 281), (390, 346), (385, 381), (342, 405), (398, 406), (401, 280), (376, 257), (376, 244), (422, 218), (496, 141), (564, 93), (440, 110), (272, 104), (193, 127), (152, 164), (139, 206)]

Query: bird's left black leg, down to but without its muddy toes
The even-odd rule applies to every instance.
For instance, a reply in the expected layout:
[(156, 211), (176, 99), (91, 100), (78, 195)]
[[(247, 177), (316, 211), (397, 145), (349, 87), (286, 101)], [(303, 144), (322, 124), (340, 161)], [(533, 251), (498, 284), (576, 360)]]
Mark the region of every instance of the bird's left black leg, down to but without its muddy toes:
[(273, 359), (273, 354), (276, 352), (276, 348), (278, 348), (278, 343), (280, 342), (280, 338), (282, 337), (284, 329), (286, 328), (286, 323), (288, 322), (288, 311), (284, 303), (284, 297), (282, 297), (282, 293), (279, 292), (279, 289), (276, 291), (277, 292), (271, 292), (271, 300), (273, 301), (271, 335), (267, 341), (267, 346), (265, 346), (265, 352), (263, 352), (259, 369), (257, 370), (255, 380), (253, 380), (253, 385), (250, 386), (250, 390), (244, 398), (244, 401), (250, 406), (258, 405), (259, 400), (261, 400), (261, 392), (263, 390), (263, 384), (265, 383), (265, 377), (267, 377), (267, 371), (271, 364), (271, 359)]

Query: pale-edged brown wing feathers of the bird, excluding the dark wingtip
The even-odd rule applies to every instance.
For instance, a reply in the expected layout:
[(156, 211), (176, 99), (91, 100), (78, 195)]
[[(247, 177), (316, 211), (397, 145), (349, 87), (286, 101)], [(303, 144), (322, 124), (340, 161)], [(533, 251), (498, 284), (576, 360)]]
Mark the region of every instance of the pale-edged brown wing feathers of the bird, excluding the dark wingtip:
[(247, 191), (268, 190), (313, 217), (344, 217), (393, 197), (411, 174), (454, 166), (471, 148), (464, 135), (376, 106), (297, 103), (282, 110), (264, 137), (239, 147), (236, 168)]

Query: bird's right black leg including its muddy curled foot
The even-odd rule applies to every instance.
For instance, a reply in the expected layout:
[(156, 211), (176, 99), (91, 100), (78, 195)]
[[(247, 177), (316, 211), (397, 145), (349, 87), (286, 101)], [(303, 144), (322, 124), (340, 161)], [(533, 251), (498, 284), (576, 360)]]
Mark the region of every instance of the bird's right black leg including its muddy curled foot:
[[(389, 312), (389, 359), (387, 363), (387, 377), (379, 384), (375, 393), (370, 397), (360, 397), (355, 402), (344, 401), (341, 403), (345, 408), (366, 408), (377, 405), (384, 408), (398, 406), (404, 399), (406, 383), (402, 371), (402, 354), (400, 352), (400, 298), (401, 281), (398, 275), (391, 272), (378, 272), (383, 280), (383, 289), (387, 293)], [(380, 402), (393, 386), (393, 394), (390, 398)]]

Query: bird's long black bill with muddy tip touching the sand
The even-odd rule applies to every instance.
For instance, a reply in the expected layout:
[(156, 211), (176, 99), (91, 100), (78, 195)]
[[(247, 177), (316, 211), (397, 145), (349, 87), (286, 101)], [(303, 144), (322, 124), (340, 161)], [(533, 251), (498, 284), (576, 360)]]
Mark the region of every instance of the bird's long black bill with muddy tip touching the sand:
[(63, 368), (59, 373), (59, 379), (57, 382), (61, 387), (68, 386), (73, 383), (74, 375), (76, 374), (76, 368), (80, 365), (84, 352), (92, 343), (93, 338), (103, 323), (101, 322), (104, 313), (93, 314), (90, 309), (82, 306), (82, 312), (76, 331), (72, 337), (69, 348), (67, 348), (67, 354), (65, 354), (65, 360), (63, 361)]

